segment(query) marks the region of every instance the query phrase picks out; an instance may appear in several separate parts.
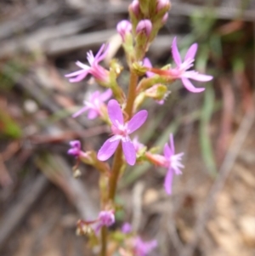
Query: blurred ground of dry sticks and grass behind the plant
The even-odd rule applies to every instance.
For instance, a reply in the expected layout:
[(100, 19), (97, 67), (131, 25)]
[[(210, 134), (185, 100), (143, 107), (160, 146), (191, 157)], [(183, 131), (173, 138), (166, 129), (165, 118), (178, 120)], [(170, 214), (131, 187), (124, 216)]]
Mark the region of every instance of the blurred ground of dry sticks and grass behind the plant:
[[(116, 23), (127, 19), (129, 3), (0, 2), (1, 256), (92, 255), (76, 223), (98, 214), (98, 174), (81, 164), (82, 177), (74, 179), (76, 162), (66, 151), (72, 139), (84, 151), (98, 150), (109, 130), (86, 115), (71, 118), (98, 85), (71, 84), (64, 75), (107, 41), (114, 48), (109, 58), (127, 68)], [(182, 53), (199, 43), (195, 69), (214, 79), (195, 84), (207, 88), (201, 94), (175, 82), (165, 105), (146, 101), (150, 118), (139, 136), (161, 148), (173, 133), (177, 152), (185, 152), (184, 174), (167, 196), (166, 170), (127, 169), (113, 228), (129, 221), (144, 240), (157, 239), (151, 255), (255, 255), (255, 1), (172, 1), (148, 53), (154, 66), (173, 61), (175, 36)], [(124, 89), (127, 74), (120, 77)]]

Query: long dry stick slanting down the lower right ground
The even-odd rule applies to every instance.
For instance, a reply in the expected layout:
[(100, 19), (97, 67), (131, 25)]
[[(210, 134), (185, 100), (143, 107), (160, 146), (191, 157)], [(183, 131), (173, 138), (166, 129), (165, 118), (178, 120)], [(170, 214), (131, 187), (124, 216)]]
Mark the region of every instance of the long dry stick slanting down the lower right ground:
[(207, 202), (205, 203), (204, 208), (201, 211), (201, 214), (196, 220), (194, 232), (195, 234), (193, 240), (190, 242), (190, 244), (188, 244), (187, 247), (184, 248), (184, 252), (181, 253), (181, 255), (193, 255), (195, 246), (199, 238), (201, 237), (203, 230), (205, 229), (207, 219), (209, 218), (210, 212), (212, 211), (212, 207), (214, 205), (216, 197), (218, 196), (218, 192), (223, 189), (224, 183), (228, 178), (231, 169), (233, 168), (235, 159), (241, 150), (241, 145), (243, 145), (249, 130), (252, 128), (252, 123), (254, 122), (254, 120), (254, 110), (247, 112), (246, 116), (243, 117), (240, 128), (238, 129), (237, 133), (235, 134), (235, 138), (233, 139), (231, 145), (229, 146), (229, 151), (224, 158), (224, 162), (218, 170), (218, 178), (212, 185), (212, 189), (209, 192)]

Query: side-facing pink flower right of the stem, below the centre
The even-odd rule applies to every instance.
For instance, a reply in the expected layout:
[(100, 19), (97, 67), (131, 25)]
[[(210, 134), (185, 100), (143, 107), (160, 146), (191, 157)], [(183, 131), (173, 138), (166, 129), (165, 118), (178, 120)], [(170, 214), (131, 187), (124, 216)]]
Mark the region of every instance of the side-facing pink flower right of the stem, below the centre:
[(184, 168), (184, 165), (180, 162), (184, 153), (175, 155), (173, 134), (170, 134), (170, 146), (167, 143), (164, 146), (164, 156), (167, 160), (165, 167), (168, 168), (164, 187), (167, 194), (170, 195), (172, 193), (173, 173), (176, 175), (182, 174), (180, 168)]

